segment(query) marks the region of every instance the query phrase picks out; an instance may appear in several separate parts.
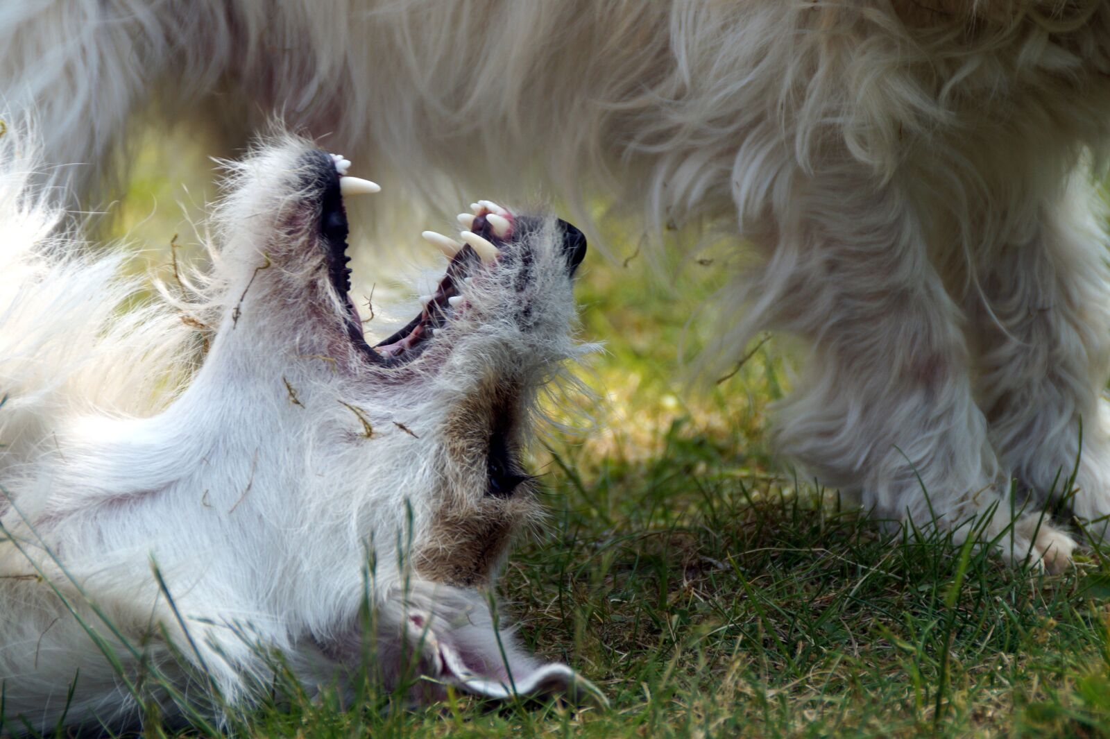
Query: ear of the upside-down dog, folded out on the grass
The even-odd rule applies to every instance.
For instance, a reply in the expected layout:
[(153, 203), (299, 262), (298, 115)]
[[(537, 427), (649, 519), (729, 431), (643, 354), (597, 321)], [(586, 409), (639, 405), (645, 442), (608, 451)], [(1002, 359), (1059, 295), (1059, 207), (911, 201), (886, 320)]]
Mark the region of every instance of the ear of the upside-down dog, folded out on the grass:
[(496, 700), (563, 695), (608, 706), (597, 686), (559, 662), (525, 651), (512, 629), (498, 626), (495, 603), (482, 593), (435, 586), (404, 599), (397, 624), (426, 679)]

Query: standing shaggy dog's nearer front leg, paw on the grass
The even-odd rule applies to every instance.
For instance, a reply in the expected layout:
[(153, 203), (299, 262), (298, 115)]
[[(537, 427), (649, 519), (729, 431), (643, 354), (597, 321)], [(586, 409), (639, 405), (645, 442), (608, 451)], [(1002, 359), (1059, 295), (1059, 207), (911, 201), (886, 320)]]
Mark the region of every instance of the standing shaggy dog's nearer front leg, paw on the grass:
[(778, 446), (866, 508), (956, 541), (978, 526), (1007, 559), (1059, 568), (1071, 539), (1038, 515), (1015, 522), (973, 398), (962, 315), (911, 203), (845, 165), (809, 180), (776, 219), (765, 283), (790, 264), (777, 323), (815, 345), (780, 408)]

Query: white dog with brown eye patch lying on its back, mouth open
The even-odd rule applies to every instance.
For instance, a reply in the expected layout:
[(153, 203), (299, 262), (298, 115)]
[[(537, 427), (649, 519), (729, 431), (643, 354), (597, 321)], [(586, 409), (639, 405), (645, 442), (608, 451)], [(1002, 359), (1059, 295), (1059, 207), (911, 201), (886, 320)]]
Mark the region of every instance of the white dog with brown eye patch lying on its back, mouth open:
[(372, 654), (386, 688), (406, 669), (434, 679), (414, 698), (593, 689), (498, 631), (480, 589), (537, 516), (519, 451), (538, 394), (583, 351), (579, 231), (482, 201), (465, 245), (426, 233), (446, 273), (371, 347), (342, 194), (376, 185), (344, 176), (350, 162), (284, 136), (233, 165), (215, 267), (183, 320), (121, 311), (141, 285), (119, 254), (51, 235), (58, 213), (17, 149), (0, 139), (10, 730), (19, 715), (120, 727), (151, 700), (219, 712), (265, 695), (275, 659), (312, 688)]

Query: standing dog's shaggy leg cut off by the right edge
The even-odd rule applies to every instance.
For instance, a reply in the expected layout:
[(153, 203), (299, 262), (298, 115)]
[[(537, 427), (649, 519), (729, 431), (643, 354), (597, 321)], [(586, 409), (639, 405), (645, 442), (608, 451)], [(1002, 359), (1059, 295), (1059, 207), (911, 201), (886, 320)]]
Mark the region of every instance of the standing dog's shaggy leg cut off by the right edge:
[[(1086, 182), (1046, 201), (1038, 224), (982, 265), (971, 295), (979, 402), (1003, 463), (1039, 495), (1071, 494), (1106, 536), (1110, 270), (1102, 209)], [(985, 300), (983, 300), (985, 298)], [(1080, 428), (1082, 441), (1080, 441)], [(1074, 489), (1064, 489), (1079, 463)]]

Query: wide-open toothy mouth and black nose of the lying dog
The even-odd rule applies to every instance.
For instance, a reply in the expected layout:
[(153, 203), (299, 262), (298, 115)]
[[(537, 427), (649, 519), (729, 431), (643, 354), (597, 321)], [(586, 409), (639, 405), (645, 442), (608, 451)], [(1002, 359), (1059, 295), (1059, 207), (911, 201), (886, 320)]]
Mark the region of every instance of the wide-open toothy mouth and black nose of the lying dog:
[[(518, 253), (516, 236), (537, 224), (531, 219), (518, 217), (507, 209), (487, 200), (471, 204), (470, 213), (458, 215), (462, 242), (434, 231), (425, 231), (425, 241), (436, 246), (447, 257), (447, 269), (430, 295), (421, 297), (421, 312), (403, 328), (374, 344), (366, 343), (362, 318), (351, 298), (351, 269), (347, 264), (349, 225), (344, 195), (374, 193), (381, 188), (369, 180), (347, 175), (351, 162), (340, 154), (314, 152), (324, 165), (324, 183), (321, 193), (320, 235), (327, 256), (327, 274), (332, 287), (345, 306), (342, 316), (351, 343), (372, 363), (400, 365), (415, 360), (443, 333), (453, 318), (462, 316), (467, 303), (462, 294), (472, 280), (483, 272), (494, 271), (506, 256), (527, 259), (527, 253)], [(583, 233), (565, 221), (558, 221), (563, 230), (563, 249), (566, 255), (567, 273), (573, 274), (586, 253)]]

